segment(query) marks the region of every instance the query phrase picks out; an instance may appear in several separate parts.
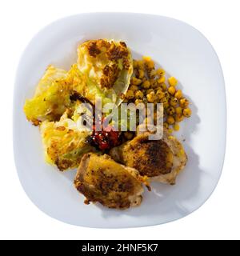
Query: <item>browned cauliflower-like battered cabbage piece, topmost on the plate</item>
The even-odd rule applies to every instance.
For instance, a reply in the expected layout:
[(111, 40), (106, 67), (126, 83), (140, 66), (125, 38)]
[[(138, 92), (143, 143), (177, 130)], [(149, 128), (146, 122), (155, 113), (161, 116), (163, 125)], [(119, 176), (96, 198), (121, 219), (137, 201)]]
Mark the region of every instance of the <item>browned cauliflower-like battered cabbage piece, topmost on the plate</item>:
[(90, 40), (78, 46), (78, 68), (94, 85), (119, 105), (133, 73), (130, 50), (125, 42)]

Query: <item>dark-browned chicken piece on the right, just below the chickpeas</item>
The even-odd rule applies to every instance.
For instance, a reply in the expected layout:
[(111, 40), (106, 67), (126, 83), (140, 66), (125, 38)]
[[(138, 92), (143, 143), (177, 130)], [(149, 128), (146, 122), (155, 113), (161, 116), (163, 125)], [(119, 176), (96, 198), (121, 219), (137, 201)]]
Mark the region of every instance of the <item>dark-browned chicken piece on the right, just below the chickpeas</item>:
[(133, 140), (113, 148), (111, 157), (152, 181), (174, 184), (187, 161), (182, 144), (166, 132), (160, 140), (150, 141), (148, 136), (149, 133), (138, 134)]

